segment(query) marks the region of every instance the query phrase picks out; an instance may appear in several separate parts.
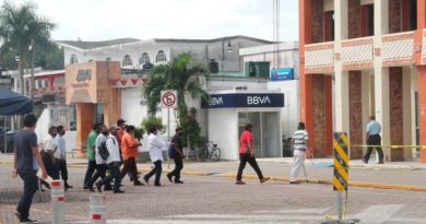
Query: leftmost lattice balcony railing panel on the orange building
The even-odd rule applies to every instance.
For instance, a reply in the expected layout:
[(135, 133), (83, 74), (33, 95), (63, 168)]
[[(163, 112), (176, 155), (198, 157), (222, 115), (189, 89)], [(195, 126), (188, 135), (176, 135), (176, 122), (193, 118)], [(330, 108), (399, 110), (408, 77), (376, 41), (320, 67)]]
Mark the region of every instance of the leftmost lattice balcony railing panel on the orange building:
[(334, 43), (320, 43), (305, 46), (305, 72), (333, 72)]

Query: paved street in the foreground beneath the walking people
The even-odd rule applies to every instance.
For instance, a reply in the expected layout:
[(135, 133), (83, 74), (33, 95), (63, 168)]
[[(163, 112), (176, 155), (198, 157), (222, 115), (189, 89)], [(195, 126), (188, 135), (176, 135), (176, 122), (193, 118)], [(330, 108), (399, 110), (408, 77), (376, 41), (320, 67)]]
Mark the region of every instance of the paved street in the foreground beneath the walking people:
[[(206, 167), (212, 175), (185, 175), (185, 185), (173, 185), (163, 176), (165, 187), (133, 187), (129, 179), (123, 180), (125, 194), (106, 192), (108, 223), (319, 223), (327, 215), (335, 213), (336, 194), (329, 185), (269, 181), (263, 185), (246, 179), (247, 185), (236, 186), (234, 179), (222, 172), (236, 169), (235, 162), (194, 163), (187, 169)], [(76, 164), (79, 165), (79, 164)], [(75, 166), (75, 164), (74, 164)], [(81, 166), (81, 164), (80, 164)], [(140, 165), (147, 168), (149, 164)], [(261, 163), (265, 174), (276, 174), (277, 164)], [(189, 167), (189, 168), (188, 168)], [(283, 169), (281, 166), (280, 168)], [(288, 168), (288, 167), (287, 167)], [(313, 173), (313, 167), (308, 173)], [(251, 167), (246, 168), (252, 173)], [(11, 179), (11, 166), (1, 164), (0, 169), (0, 223), (13, 224), (22, 181)], [(88, 191), (81, 188), (84, 168), (70, 168), (74, 189), (67, 192), (67, 222), (87, 223)], [(354, 170), (370, 174), (374, 170)], [(384, 172), (384, 173), (380, 173)], [(319, 172), (321, 173), (321, 172)], [(388, 176), (395, 181), (391, 170), (376, 170), (377, 175)], [(421, 176), (423, 170), (403, 172), (404, 178)], [(411, 174), (411, 175), (410, 175)], [(360, 175), (359, 175), (360, 176)], [(381, 177), (383, 178), (383, 177)], [(401, 182), (403, 184), (403, 182)], [(351, 187), (347, 202), (348, 217), (360, 219), (362, 223), (426, 223), (423, 205), (426, 192), (401, 191)], [(32, 215), (43, 223), (49, 223), (49, 192), (36, 194)]]

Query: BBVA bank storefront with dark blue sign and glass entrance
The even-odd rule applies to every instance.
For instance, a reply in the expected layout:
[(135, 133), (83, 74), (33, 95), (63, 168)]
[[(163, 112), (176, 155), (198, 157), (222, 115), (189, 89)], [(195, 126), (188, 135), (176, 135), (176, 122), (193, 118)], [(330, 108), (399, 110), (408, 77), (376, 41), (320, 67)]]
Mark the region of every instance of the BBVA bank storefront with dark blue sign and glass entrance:
[(244, 125), (253, 125), (253, 148), (257, 157), (281, 157), (281, 109), (284, 94), (268, 91), (222, 91), (211, 93), (201, 108), (208, 111), (208, 134), (220, 142), (221, 158), (238, 160), (239, 133)]

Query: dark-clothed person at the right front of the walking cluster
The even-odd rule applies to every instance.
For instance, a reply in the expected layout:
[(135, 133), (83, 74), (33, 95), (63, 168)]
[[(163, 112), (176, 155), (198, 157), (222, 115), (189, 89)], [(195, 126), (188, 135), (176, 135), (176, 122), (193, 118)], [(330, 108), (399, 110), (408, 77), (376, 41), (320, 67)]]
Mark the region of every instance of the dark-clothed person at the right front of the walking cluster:
[(180, 180), (180, 170), (184, 168), (184, 141), (182, 141), (182, 134), (184, 130), (182, 128), (176, 128), (176, 134), (171, 139), (171, 143), (174, 145), (174, 160), (175, 160), (175, 169), (167, 174), (168, 180), (173, 182), (171, 177), (175, 177), (175, 184), (184, 184), (184, 181)]

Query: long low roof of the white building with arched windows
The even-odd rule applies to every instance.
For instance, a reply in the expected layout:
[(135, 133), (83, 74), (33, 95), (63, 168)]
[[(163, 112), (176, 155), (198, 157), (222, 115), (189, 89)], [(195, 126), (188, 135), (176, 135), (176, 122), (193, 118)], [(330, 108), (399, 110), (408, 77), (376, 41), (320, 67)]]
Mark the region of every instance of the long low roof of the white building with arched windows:
[(270, 40), (265, 39), (259, 39), (255, 37), (244, 36), (244, 35), (236, 35), (236, 36), (226, 36), (226, 37), (220, 37), (220, 38), (213, 38), (213, 39), (174, 39), (174, 38), (153, 38), (153, 39), (135, 39), (135, 38), (121, 38), (121, 39), (111, 39), (111, 40), (105, 40), (105, 42), (82, 42), (82, 40), (57, 40), (59, 45), (71, 47), (78, 50), (88, 50), (94, 48), (103, 48), (103, 47), (110, 47), (115, 45), (123, 45), (123, 44), (146, 44), (146, 43), (214, 43), (214, 42), (222, 42), (222, 40), (229, 40), (229, 39), (237, 39), (237, 38), (244, 38), (255, 42), (260, 42), (264, 44), (272, 44)]

